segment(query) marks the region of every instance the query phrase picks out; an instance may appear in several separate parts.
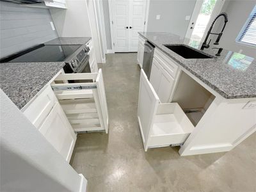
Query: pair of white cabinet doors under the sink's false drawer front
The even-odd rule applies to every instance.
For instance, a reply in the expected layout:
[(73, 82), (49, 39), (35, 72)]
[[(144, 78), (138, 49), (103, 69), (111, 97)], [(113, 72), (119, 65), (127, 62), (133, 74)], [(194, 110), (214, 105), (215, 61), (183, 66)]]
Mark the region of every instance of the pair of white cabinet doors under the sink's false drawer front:
[(174, 79), (154, 58), (150, 73), (150, 83), (161, 102), (169, 102), (173, 90)]

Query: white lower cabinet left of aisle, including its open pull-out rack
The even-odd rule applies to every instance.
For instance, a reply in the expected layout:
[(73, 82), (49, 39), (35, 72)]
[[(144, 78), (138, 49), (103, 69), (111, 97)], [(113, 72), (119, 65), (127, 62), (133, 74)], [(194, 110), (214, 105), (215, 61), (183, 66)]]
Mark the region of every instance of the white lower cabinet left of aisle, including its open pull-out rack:
[[(68, 83), (68, 80), (75, 83)], [(108, 133), (108, 106), (102, 70), (81, 74), (60, 72), (22, 112), (69, 162), (76, 132)]]

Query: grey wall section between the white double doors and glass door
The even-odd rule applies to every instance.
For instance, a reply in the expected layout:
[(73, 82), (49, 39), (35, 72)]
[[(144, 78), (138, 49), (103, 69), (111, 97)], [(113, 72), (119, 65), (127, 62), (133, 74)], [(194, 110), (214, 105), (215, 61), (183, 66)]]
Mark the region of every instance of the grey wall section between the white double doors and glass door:
[[(184, 37), (195, 7), (195, 0), (151, 0), (148, 12), (148, 32), (170, 32)], [(156, 19), (156, 15), (161, 15)]]

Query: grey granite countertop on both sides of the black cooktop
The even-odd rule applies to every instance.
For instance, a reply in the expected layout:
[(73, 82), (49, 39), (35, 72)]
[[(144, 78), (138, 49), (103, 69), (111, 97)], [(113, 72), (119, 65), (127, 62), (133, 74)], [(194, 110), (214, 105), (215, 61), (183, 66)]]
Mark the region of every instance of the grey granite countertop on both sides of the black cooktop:
[[(86, 44), (91, 38), (56, 38), (46, 44)], [(22, 109), (44, 88), (65, 62), (0, 63), (0, 88)]]

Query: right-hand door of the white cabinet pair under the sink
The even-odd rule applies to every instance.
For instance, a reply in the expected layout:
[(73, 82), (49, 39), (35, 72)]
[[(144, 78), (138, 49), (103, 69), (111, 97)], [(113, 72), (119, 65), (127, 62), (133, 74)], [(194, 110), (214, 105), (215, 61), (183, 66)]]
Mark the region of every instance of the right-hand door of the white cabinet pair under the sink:
[(157, 91), (157, 95), (162, 103), (169, 102), (170, 95), (173, 89), (174, 79), (164, 68), (161, 70), (161, 76), (159, 79), (159, 88)]

